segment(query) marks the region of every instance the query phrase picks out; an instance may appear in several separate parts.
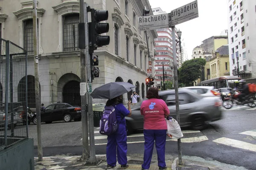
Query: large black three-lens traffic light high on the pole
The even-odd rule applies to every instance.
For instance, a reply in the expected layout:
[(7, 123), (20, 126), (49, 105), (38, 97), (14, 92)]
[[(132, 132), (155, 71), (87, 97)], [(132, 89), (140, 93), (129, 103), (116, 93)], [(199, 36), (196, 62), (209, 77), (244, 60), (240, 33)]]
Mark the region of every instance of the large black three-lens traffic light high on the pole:
[(102, 36), (100, 34), (107, 33), (109, 30), (108, 23), (100, 23), (100, 21), (108, 20), (108, 11), (105, 10), (95, 10), (91, 11), (91, 23), (89, 23), (89, 45), (90, 53), (92, 54), (97, 47), (102, 47), (103, 45), (109, 45), (110, 37)]

